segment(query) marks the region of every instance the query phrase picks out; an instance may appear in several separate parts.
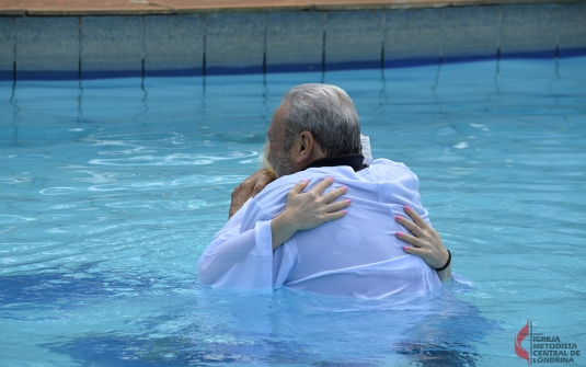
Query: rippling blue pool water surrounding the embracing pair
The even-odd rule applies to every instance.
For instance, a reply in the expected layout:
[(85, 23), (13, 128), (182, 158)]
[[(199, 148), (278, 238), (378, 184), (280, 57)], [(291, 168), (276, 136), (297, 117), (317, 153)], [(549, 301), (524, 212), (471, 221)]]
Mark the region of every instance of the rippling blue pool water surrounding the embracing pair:
[[(527, 320), (586, 354), (585, 66), (1, 83), (0, 365), (526, 366)], [(411, 303), (199, 287), (302, 82), (345, 89), (374, 156), (420, 176), (472, 286)]]

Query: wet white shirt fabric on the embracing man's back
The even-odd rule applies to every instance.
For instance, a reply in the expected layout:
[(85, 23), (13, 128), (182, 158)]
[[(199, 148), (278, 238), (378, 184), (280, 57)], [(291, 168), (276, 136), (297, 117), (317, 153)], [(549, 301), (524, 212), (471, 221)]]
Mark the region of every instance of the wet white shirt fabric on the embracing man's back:
[[(297, 232), (272, 251), (271, 220), (291, 187), (310, 180), (306, 191), (325, 177), (328, 190), (347, 186), (340, 199), (352, 199), (345, 217)], [(395, 232), (405, 228), (394, 216), (410, 206), (428, 222), (418, 179), (403, 163), (376, 159), (365, 169), (348, 165), (309, 168), (271, 183), (214, 237), (197, 263), (199, 283), (218, 288), (298, 290), (380, 299), (422, 296), (440, 285), (434, 269), (406, 254)]]

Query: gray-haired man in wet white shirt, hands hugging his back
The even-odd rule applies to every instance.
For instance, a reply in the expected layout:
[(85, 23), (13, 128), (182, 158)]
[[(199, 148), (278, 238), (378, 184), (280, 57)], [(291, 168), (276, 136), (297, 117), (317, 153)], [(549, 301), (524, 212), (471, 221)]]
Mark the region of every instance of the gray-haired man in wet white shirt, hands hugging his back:
[(231, 218), (197, 263), (200, 284), (378, 299), (421, 296), (451, 277), (451, 254), (428, 223), (417, 177), (390, 160), (365, 164), (346, 92), (292, 88), (267, 137), (277, 180), (264, 187), (261, 171), (251, 198), (250, 180), (237, 187)]

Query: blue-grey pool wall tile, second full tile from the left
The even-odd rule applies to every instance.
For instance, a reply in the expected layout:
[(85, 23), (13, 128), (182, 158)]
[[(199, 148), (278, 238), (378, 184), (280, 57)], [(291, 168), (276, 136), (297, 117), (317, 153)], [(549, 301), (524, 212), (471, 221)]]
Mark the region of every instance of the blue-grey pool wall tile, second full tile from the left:
[(142, 73), (142, 16), (81, 20), (81, 78)]

